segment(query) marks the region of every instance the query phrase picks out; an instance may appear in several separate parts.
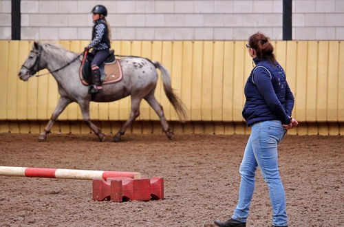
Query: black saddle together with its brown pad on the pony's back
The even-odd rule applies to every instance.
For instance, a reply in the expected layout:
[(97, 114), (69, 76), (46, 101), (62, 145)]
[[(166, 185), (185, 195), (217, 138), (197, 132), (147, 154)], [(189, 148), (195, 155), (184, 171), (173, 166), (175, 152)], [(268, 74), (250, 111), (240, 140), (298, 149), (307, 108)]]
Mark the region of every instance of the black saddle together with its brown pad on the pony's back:
[[(80, 65), (79, 77), (83, 85), (88, 86), (91, 83), (91, 62), (94, 58), (92, 53), (87, 53), (84, 56), (83, 62)], [(120, 61), (115, 59), (114, 50), (110, 50), (109, 56), (100, 65), (100, 80), (102, 80), (103, 85), (110, 83), (116, 83), (122, 80), (122, 67), (120, 66)]]

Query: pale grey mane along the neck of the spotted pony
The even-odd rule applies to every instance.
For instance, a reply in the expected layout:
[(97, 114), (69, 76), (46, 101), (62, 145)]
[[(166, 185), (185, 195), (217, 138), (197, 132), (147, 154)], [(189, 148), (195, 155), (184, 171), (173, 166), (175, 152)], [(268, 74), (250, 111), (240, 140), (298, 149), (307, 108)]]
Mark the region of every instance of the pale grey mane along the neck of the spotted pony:
[(77, 56), (76, 53), (65, 50), (65, 48), (57, 43), (43, 42), (41, 43), (41, 47), (43, 48), (45, 54), (47, 54), (47, 58), (54, 58), (56, 61), (62, 64), (69, 63)]

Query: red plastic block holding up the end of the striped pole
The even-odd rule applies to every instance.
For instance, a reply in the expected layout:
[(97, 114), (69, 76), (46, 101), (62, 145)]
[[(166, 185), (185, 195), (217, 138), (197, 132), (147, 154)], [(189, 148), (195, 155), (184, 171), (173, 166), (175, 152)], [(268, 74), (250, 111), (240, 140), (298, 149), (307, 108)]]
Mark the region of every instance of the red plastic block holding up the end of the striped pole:
[(148, 201), (164, 198), (164, 179), (152, 177), (132, 179), (129, 177), (109, 177), (107, 180), (93, 180), (93, 199), (114, 202), (127, 200)]

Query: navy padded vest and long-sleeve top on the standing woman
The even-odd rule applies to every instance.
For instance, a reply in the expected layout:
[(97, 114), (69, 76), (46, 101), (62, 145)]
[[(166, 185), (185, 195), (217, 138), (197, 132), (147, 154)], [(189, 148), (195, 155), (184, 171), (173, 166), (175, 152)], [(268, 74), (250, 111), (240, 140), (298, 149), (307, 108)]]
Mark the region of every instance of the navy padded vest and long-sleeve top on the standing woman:
[(248, 126), (264, 120), (281, 120), (290, 123), (294, 96), (286, 80), (286, 74), (276, 62), (253, 59), (256, 67), (245, 85), (246, 102), (243, 116)]

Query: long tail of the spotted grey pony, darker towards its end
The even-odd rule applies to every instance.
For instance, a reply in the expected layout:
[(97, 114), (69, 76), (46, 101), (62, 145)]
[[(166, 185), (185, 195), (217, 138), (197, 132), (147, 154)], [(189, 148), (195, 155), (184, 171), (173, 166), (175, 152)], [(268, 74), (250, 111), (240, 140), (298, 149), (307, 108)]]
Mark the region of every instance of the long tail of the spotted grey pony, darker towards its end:
[(162, 83), (164, 84), (165, 94), (167, 98), (169, 99), (169, 101), (171, 102), (171, 104), (173, 105), (175, 111), (177, 112), (180, 118), (180, 121), (184, 122), (187, 118), (185, 105), (182, 102), (182, 100), (180, 100), (180, 98), (173, 92), (173, 89), (171, 87), (171, 79), (170, 79), (171, 76), (169, 74), (169, 71), (163, 65), (161, 65), (158, 61), (153, 61), (153, 64), (155, 65), (157, 69), (160, 69), (161, 76), (162, 76)]

